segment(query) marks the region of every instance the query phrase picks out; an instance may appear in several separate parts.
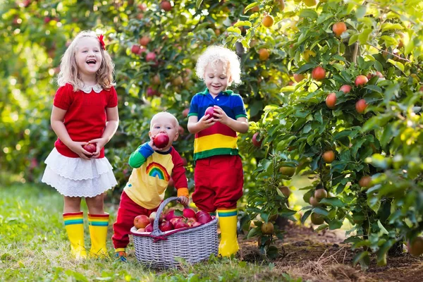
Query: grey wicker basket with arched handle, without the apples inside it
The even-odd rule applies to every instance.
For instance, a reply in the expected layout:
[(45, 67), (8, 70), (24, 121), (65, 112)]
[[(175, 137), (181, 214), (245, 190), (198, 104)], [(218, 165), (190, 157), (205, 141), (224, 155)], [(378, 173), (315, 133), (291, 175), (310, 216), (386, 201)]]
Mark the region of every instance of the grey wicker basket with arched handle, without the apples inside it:
[(138, 262), (152, 268), (176, 267), (180, 264), (177, 257), (194, 264), (209, 259), (211, 254), (217, 255), (217, 218), (196, 227), (180, 228), (161, 232), (159, 218), (164, 207), (178, 197), (169, 197), (157, 209), (152, 233), (137, 232), (131, 229), (135, 245), (135, 257)]

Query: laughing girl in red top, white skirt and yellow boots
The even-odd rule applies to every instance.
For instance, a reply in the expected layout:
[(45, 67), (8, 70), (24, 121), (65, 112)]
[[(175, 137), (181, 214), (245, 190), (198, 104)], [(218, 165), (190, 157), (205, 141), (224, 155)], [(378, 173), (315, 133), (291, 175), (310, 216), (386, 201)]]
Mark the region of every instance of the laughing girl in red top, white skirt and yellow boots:
[[(106, 252), (109, 214), (104, 212), (104, 192), (116, 185), (112, 166), (104, 157), (104, 145), (116, 133), (118, 99), (114, 89), (114, 63), (103, 35), (80, 32), (61, 59), (59, 90), (54, 96), (51, 128), (58, 139), (45, 163), (42, 182), (64, 197), (63, 220), (73, 257), (87, 256), (84, 246), (83, 212), (88, 207), (93, 257)], [(85, 145), (94, 145), (94, 152)]]

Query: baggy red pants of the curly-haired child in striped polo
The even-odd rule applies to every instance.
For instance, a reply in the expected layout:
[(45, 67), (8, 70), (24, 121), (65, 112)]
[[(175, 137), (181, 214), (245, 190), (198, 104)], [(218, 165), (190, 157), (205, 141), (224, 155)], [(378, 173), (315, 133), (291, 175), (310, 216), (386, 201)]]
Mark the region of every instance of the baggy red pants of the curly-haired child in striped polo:
[(195, 163), (192, 201), (204, 212), (233, 209), (243, 195), (243, 163), (239, 156), (214, 156)]

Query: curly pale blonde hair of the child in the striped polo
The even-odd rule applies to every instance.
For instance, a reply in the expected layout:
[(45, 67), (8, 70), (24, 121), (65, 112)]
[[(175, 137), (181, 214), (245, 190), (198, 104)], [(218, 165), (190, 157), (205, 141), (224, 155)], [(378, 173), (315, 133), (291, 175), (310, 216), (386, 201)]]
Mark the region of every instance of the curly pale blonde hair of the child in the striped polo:
[(223, 63), (223, 71), (230, 76), (229, 85), (234, 82), (235, 85), (241, 83), (241, 64), (238, 55), (223, 46), (212, 45), (207, 47), (206, 51), (198, 58), (195, 65), (195, 72), (200, 80), (204, 80), (204, 71), (207, 66), (212, 64), (216, 68), (216, 64), (221, 61)]

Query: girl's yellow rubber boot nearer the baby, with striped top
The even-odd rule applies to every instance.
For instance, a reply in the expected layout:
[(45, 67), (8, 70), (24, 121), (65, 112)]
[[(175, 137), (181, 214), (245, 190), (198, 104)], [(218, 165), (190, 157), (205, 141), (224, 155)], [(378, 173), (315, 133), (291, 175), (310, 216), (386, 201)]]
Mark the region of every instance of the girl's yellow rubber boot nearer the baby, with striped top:
[(109, 214), (88, 214), (88, 227), (91, 237), (91, 257), (106, 257), (107, 226)]

